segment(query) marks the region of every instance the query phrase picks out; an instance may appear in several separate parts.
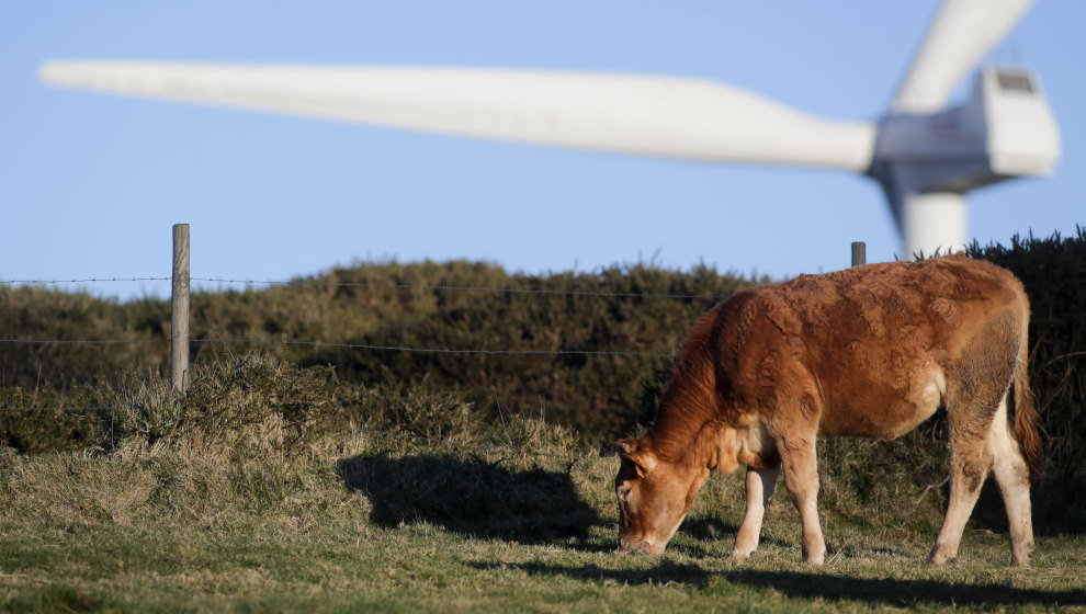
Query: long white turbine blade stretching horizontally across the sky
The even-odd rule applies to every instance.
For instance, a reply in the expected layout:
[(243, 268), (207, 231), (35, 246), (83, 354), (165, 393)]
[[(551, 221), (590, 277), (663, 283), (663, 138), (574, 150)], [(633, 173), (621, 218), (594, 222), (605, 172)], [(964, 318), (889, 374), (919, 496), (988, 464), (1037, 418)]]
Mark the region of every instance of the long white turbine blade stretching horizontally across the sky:
[(647, 156), (864, 171), (875, 128), (708, 81), (446, 68), (66, 61), (55, 84)]

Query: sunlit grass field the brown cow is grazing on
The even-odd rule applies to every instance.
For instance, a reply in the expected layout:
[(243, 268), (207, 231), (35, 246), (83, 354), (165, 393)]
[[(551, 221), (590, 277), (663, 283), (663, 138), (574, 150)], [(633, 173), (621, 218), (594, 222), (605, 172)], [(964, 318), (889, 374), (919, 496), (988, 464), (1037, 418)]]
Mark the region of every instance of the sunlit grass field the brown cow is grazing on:
[(927, 508), (826, 511), (814, 568), (780, 489), (759, 552), (734, 561), (733, 476), (710, 480), (663, 557), (616, 555), (618, 459), (561, 429), (517, 419), (452, 443), (354, 430), (298, 446), (274, 420), (244, 430), (0, 448), (0, 610), (1086, 611), (1083, 534), (1039, 527), (1019, 570), (1006, 535), (971, 525), (961, 559), (936, 568)]

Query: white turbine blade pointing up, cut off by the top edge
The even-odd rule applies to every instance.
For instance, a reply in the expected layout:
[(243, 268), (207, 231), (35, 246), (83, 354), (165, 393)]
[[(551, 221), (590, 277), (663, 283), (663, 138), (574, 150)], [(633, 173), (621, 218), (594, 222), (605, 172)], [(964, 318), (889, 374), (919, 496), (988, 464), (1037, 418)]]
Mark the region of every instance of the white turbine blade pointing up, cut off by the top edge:
[(892, 113), (934, 113), (954, 86), (1015, 23), (1033, 0), (946, 0), (897, 90)]

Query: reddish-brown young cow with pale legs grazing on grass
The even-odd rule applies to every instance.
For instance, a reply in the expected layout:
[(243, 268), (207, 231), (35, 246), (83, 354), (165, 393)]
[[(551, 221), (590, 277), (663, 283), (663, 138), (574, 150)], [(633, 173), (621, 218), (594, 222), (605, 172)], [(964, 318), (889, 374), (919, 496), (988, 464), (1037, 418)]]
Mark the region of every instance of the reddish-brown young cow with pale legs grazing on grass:
[(892, 440), (946, 407), (950, 501), (928, 560), (957, 557), (992, 469), (1010, 521), (1011, 561), (1028, 566), (1029, 479), (1040, 456), (1028, 321), (1018, 280), (964, 255), (803, 275), (735, 294), (691, 329), (653, 428), (618, 442), (621, 550), (664, 552), (710, 471), (746, 466), (746, 516), (733, 556), (757, 548), (783, 469), (803, 522), (803, 558), (822, 564), (817, 437)]

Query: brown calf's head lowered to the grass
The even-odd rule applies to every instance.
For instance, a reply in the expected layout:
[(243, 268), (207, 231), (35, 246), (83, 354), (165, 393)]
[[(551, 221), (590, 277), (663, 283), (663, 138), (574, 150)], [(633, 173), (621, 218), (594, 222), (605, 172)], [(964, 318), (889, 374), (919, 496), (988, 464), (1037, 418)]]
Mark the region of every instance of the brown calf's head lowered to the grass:
[(664, 461), (645, 437), (616, 444), (622, 451), (614, 478), (619, 549), (658, 555), (686, 518), (709, 469)]

